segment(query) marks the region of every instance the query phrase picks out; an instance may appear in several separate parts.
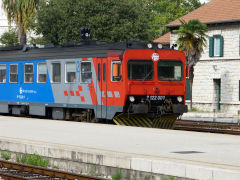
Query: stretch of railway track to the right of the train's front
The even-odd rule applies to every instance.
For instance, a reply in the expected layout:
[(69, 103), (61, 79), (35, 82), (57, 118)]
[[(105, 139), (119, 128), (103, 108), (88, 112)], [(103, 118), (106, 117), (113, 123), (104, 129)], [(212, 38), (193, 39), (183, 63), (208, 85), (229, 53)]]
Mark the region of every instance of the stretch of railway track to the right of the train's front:
[(240, 125), (234, 123), (177, 120), (174, 129), (240, 135)]

